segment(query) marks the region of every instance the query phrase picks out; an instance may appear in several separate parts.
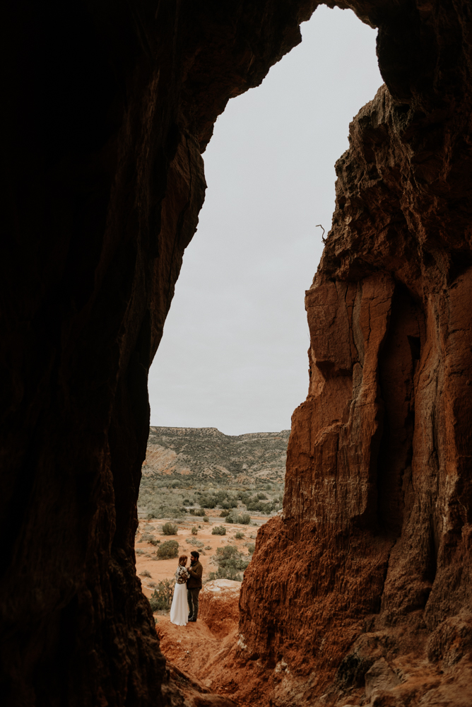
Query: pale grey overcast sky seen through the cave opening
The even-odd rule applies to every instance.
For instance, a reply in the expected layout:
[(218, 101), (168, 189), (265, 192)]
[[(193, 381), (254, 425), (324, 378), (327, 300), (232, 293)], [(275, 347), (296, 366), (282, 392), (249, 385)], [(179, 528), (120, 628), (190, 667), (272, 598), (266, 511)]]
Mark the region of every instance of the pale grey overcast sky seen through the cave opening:
[(377, 31), (320, 6), (302, 44), (230, 100), (203, 155), (208, 189), (149, 375), (151, 425), (290, 428), (307, 396), (305, 290), (334, 211), (334, 163), (382, 77)]

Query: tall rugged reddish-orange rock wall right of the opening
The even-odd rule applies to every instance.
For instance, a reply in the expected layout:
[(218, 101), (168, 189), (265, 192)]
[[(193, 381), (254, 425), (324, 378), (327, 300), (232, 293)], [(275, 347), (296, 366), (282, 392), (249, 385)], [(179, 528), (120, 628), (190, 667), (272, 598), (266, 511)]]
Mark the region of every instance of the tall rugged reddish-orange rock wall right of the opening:
[[(418, 3), (397, 20), (380, 24), (387, 86), (350, 125), (306, 295), (284, 515), (242, 589), (247, 652), (291, 671), (280, 703), (357, 704), (372, 684), (375, 704), (472, 699), (471, 15)], [(408, 684), (415, 661), (430, 682)]]

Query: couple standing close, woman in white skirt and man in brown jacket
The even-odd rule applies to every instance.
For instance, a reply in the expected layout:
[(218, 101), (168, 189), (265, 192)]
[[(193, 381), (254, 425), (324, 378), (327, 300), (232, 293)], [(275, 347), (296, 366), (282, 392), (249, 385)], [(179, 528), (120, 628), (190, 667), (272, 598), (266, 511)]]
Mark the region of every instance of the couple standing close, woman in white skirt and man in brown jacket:
[[(170, 607), (170, 621), (177, 626), (187, 626), (187, 621), (196, 621), (199, 615), (199, 593), (201, 575), (203, 575), (203, 565), (199, 557), (199, 552), (191, 551), (189, 567), (187, 567), (187, 555), (179, 557), (179, 566), (175, 573), (174, 596)], [(188, 616), (187, 612), (189, 612)]]

